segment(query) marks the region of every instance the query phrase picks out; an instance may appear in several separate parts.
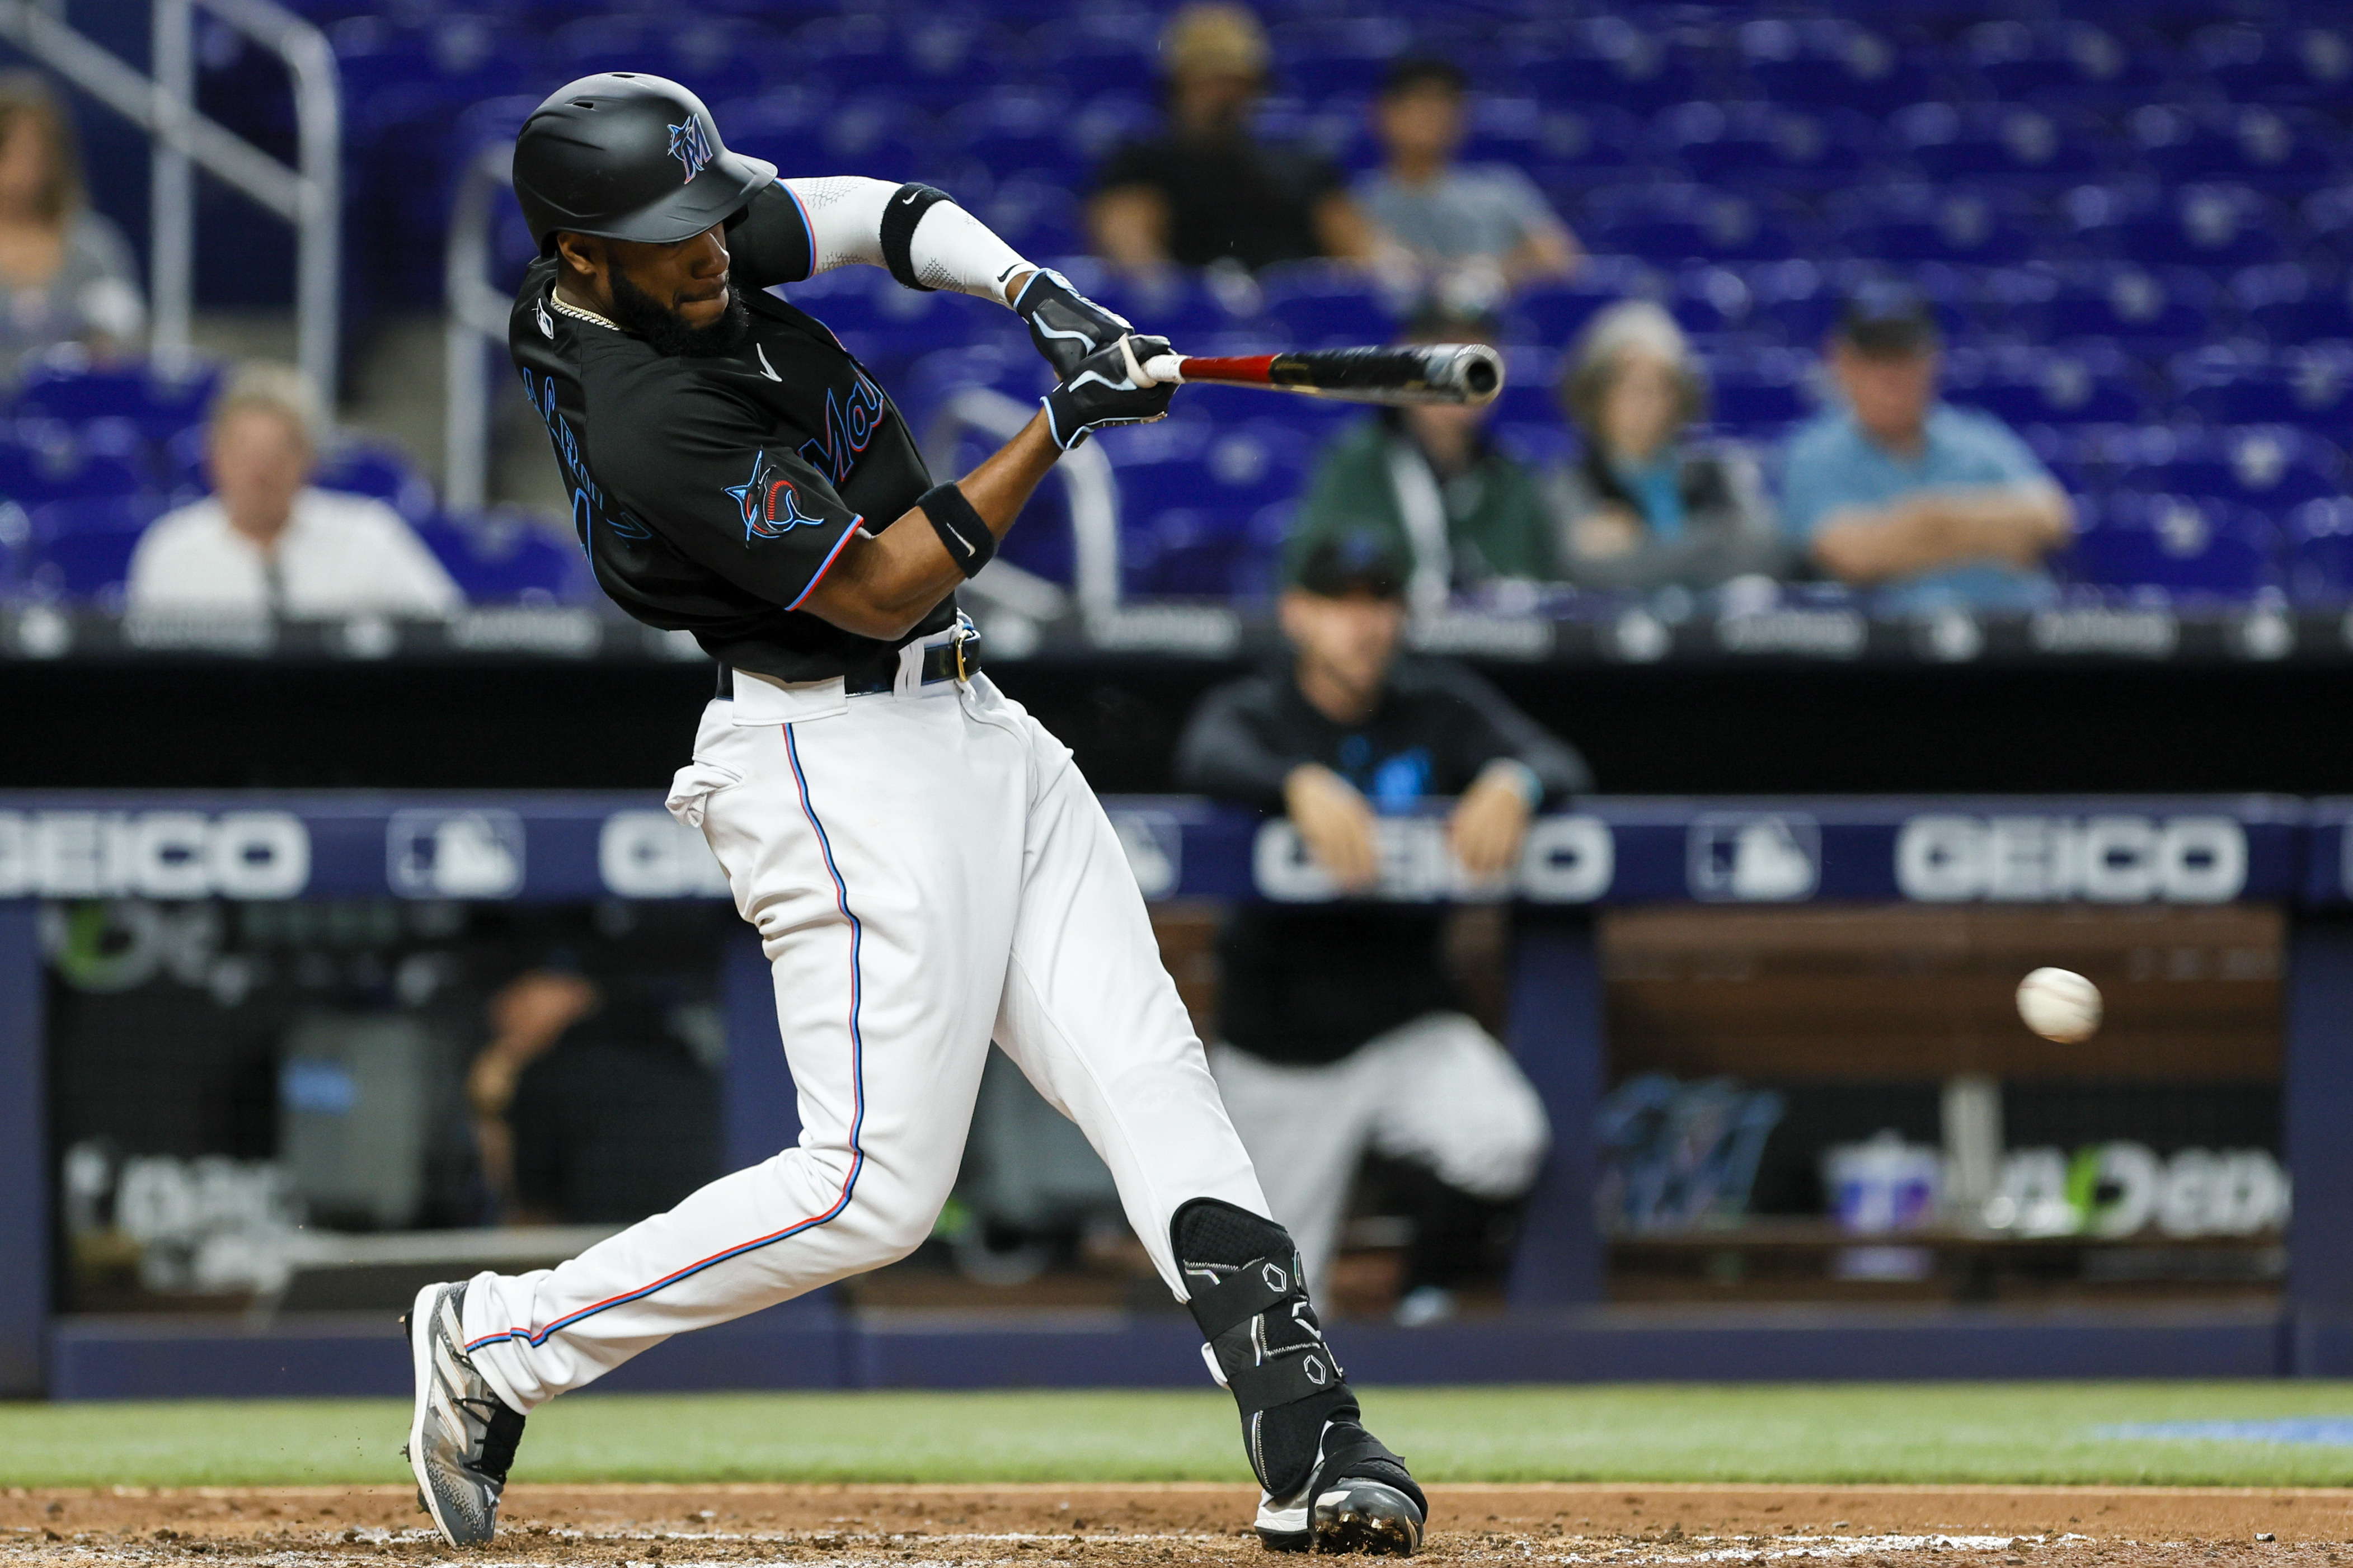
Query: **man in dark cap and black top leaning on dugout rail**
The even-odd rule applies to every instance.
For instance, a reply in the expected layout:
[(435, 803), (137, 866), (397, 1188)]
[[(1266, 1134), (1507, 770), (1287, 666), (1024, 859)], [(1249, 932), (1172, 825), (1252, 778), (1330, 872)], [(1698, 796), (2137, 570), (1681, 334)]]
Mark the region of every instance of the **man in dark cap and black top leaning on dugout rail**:
[(1461, 665), (1398, 656), (1407, 571), (1384, 534), (1320, 541), (1282, 595), (1289, 658), (1202, 698), (1176, 780), (1287, 816), (1337, 896), (1235, 905), (1219, 933), (1209, 1070), (1266, 1201), (1320, 1288), (1365, 1154), (1402, 1161), (1421, 1180), (1400, 1316), (1431, 1321), (1534, 1182), (1551, 1131), (1466, 1011), (1449, 912), (1377, 898), (1384, 823), (1442, 811), (1461, 870), (1497, 879), (1529, 816), (1593, 778)]

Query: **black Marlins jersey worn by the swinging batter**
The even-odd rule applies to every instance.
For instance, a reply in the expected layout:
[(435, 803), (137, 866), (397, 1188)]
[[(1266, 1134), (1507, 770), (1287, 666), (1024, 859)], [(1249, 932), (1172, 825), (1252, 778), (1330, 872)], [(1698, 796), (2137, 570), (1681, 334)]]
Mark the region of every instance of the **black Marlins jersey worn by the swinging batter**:
[[(713, 658), (807, 682), (892, 644), (802, 611), (854, 529), (880, 534), (932, 487), (906, 418), (814, 315), (765, 294), (809, 275), (800, 202), (767, 186), (727, 235), (751, 334), (727, 355), (654, 353), (555, 303), (534, 261), (508, 317), (572, 527), (614, 604), (694, 632)], [(908, 637), (955, 621), (946, 597)]]

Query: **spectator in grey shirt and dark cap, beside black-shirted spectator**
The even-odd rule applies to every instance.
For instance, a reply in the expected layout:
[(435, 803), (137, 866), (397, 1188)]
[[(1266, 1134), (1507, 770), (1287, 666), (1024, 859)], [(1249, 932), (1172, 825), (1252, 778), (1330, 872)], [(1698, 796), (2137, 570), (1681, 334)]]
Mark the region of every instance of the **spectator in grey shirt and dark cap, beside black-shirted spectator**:
[(1508, 165), (1454, 162), (1471, 80), (1442, 59), (1388, 71), (1372, 122), (1388, 150), (1355, 181), (1358, 207), (1445, 294), (1494, 299), (1534, 277), (1567, 277), (1584, 254), (1534, 181)]

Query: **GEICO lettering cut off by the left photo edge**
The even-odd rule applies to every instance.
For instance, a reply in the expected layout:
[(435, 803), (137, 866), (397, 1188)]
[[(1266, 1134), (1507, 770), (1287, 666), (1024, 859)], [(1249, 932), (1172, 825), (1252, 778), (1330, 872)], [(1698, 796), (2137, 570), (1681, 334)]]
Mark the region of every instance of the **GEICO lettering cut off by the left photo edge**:
[(289, 811), (0, 811), (0, 898), (292, 898), (311, 830)]

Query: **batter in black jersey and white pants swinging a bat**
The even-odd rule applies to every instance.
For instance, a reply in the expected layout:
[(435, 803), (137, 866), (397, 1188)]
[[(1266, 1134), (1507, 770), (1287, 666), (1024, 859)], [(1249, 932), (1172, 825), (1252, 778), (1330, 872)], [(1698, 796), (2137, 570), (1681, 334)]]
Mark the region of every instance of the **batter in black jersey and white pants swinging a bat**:
[[(955, 609), (1061, 451), (1167, 411), (1139, 369), (1167, 343), (929, 186), (779, 181), (661, 78), (541, 103), (515, 195), (541, 254), (508, 346), (581, 548), (621, 609), (720, 665), (668, 806), (760, 931), (802, 1133), (562, 1267), (416, 1295), (407, 1458), (433, 1523), (492, 1537), (541, 1401), (915, 1251), (995, 1039), (1200, 1324), (1266, 1544), (1414, 1552), (1421, 1490), (1325, 1347), (1118, 837)], [(1061, 376), (962, 480), (936, 484), (873, 376), (765, 292), (849, 261), (1009, 306)]]

